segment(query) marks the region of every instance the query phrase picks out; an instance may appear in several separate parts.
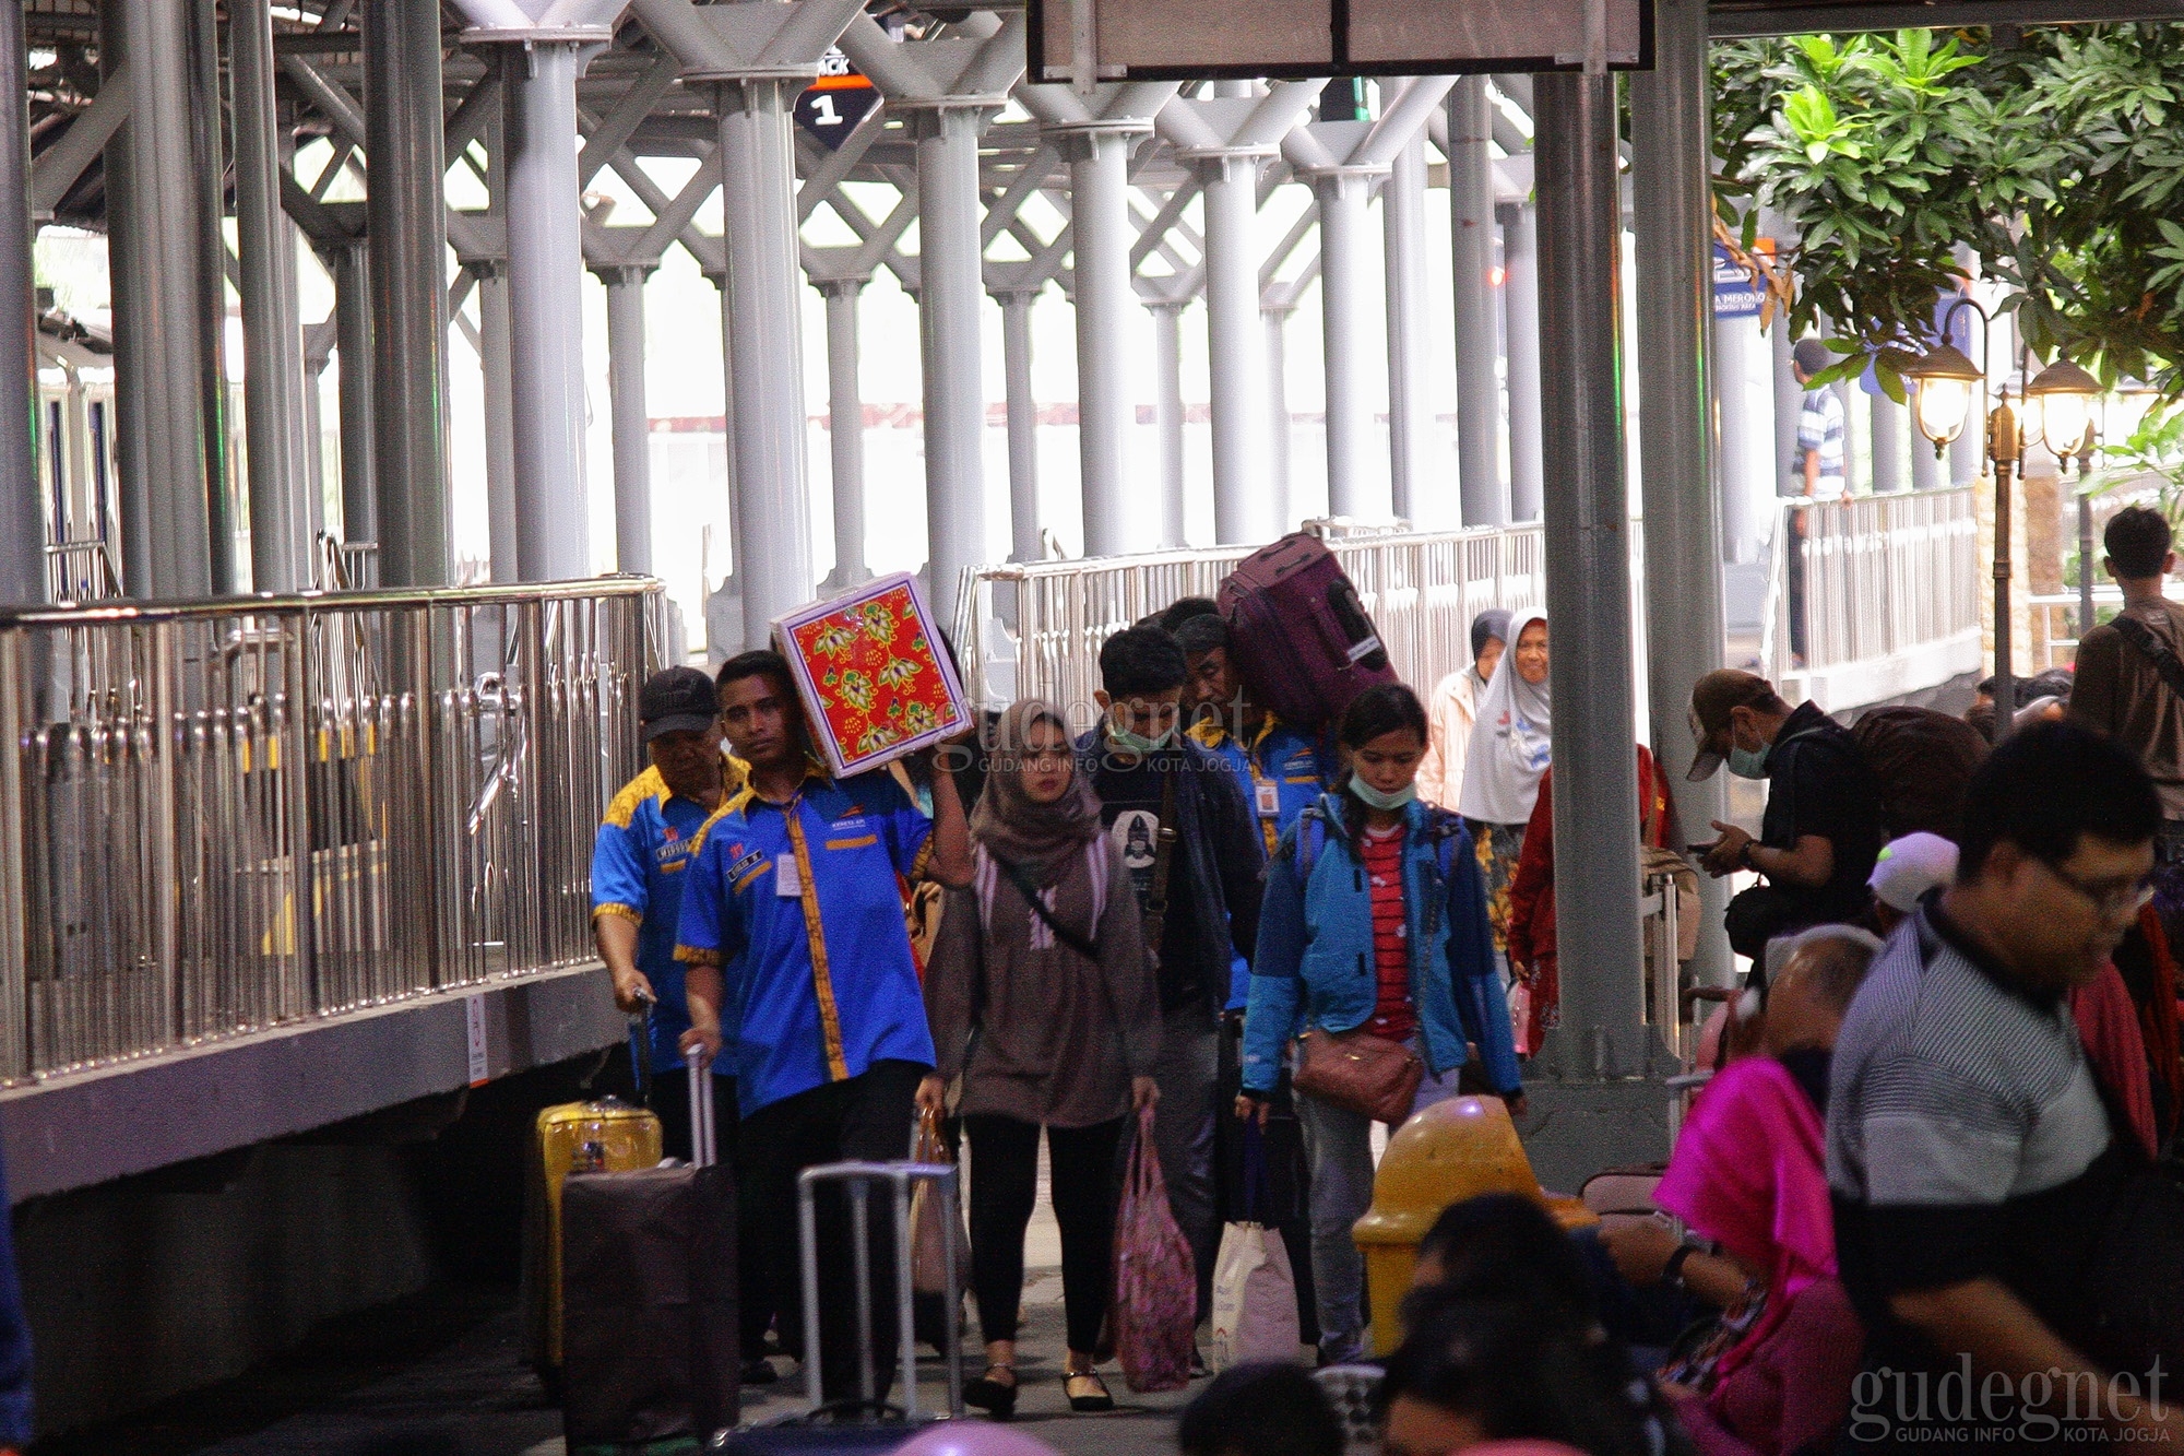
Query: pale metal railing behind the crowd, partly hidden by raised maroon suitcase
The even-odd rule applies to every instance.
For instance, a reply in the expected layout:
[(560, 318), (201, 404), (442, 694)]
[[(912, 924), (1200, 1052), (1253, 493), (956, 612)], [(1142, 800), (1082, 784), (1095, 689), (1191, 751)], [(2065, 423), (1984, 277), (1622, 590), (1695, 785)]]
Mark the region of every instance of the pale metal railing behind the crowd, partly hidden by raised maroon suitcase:
[[(1472, 617), (1522, 610), (1546, 592), (1540, 527), (1330, 536), (1404, 682), (1426, 691), (1472, 660)], [(968, 571), (957, 651), (972, 702), (1044, 697), (1079, 717), (1099, 686), (1099, 649), (1177, 597), (1212, 597), (1254, 547), (1155, 551)]]

